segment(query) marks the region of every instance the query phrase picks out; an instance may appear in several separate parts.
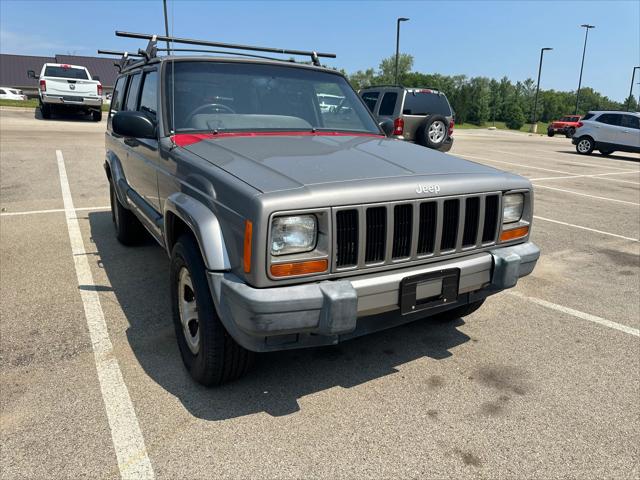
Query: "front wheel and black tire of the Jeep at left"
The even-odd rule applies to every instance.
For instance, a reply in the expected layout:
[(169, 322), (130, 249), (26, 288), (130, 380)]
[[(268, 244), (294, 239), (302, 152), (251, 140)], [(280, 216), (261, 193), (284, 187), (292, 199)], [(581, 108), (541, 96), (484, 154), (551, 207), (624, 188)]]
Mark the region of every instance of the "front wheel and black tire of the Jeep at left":
[(182, 235), (173, 247), (170, 285), (178, 347), (193, 379), (213, 386), (243, 376), (253, 363), (253, 352), (238, 345), (222, 325), (191, 235)]

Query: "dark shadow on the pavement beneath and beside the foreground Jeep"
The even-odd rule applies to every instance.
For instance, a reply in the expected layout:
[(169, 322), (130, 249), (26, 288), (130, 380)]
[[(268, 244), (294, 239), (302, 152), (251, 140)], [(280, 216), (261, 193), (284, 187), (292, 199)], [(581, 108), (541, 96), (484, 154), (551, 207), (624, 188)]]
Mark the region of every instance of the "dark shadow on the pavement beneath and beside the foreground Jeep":
[[(444, 359), (469, 341), (450, 322), (417, 321), (347, 341), (335, 347), (292, 350), (256, 356), (254, 368), (238, 381), (207, 389), (182, 365), (169, 302), (169, 261), (153, 240), (124, 247), (115, 239), (110, 212), (89, 214), (96, 260), (129, 322), (127, 338), (144, 371), (175, 395), (194, 416), (224, 420), (266, 412), (273, 416), (300, 410), (298, 400), (327, 389), (351, 388), (387, 375), (422, 357)], [(107, 318), (108, 322), (108, 318)]]

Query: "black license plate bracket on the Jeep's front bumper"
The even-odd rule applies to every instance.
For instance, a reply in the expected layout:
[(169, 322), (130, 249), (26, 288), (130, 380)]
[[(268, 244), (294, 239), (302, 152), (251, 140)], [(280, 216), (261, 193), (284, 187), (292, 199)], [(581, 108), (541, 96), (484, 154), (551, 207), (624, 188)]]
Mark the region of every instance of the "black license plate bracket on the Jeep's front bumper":
[[(439, 289), (438, 282), (440, 282)], [(436, 270), (403, 278), (400, 282), (400, 312), (406, 315), (455, 302), (458, 299), (459, 282), (459, 268)], [(423, 292), (435, 289), (436, 292), (431, 296), (420, 298), (419, 289)]]

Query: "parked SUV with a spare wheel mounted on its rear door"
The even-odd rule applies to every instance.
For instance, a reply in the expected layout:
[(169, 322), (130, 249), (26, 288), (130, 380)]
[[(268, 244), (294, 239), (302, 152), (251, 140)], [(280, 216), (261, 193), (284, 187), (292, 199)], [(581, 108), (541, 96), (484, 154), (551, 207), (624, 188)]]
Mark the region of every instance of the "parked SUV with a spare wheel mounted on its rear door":
[(453, 146), (453, 110), (447, 96), (432, 88), (367, 87), (359, 91), (378, 120), (393, 121), (393, 136), (448, 152)]

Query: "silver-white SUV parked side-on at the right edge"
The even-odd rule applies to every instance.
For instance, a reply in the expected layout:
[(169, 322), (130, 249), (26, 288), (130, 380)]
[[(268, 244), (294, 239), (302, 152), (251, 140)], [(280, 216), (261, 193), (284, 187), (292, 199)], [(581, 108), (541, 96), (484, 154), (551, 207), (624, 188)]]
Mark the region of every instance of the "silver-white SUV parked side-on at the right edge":
[(591, 155), (594, 150), (602, 155), (640, 153), (640, 113), (589, 112), (578, 122), (571, 141), (582, 155)]

